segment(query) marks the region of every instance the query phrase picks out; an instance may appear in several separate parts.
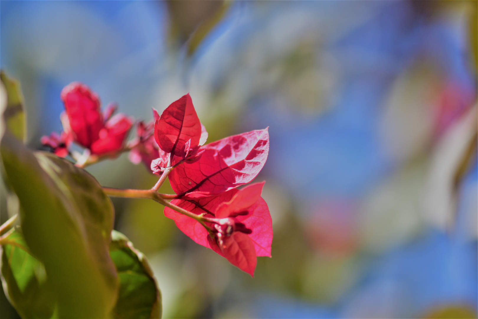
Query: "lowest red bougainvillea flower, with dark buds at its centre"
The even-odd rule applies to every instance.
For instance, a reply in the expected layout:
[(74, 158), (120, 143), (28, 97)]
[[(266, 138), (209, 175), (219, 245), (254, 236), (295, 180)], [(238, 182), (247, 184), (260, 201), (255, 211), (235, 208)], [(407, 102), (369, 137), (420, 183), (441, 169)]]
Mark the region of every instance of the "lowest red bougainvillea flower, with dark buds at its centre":
[[(231, 264), (253, 275), (255, 262), (252, 259), (256, 256), (271, 256), (272, 219), (266, 202), (261, 198), (263, 185), (264, 182), (255, 183), (242, 190), (233, 188), (212, 196), (204, 192), (193, 192), (188, 193), (182, 199), (171, 201), (172, 204), (194, 214), (205, 214), (204, 217), (206, 218), (216, 219), (216, 223), (206, 222), (206, 225), (216, 232), (214, 240), (210, 238), (206, 229), (196, 220), (167, 207), (164, 209), (164, 215), (174, 220), (176, 226), (192, 240), (200, 245), (212, 248), (226, 257)], [(255, 201), (252, 202), (254, 199)], [(235, 231), (232, 229), (232, 232), (228, 233), (227, 227), (226, 229), (221, 227), (223, 225), (231, 225), (236, 229)], [(224, 231), (222, 247), (217, 245), (219, 229)], [(244, 235), (238, 235), (238, 233), (244, 234), (248, 239)], [(228, 238), (232, 235), (232, 238)], [(254, 250), (251, 251), (250, 247), (253, 247)]]

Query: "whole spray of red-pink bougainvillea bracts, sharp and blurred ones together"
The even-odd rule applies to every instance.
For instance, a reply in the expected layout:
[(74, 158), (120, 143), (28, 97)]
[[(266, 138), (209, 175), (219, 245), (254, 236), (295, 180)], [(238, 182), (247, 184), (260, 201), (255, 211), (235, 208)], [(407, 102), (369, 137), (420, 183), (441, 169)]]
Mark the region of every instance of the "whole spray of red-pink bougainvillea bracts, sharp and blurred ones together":
[(131, 162), (143, 162), (161, 176), (161, 183), (169, 178), (176, 195), (169, 197), (174, 198), (169, 203), (161, 199), (167, 204), (164, 215), (195, 242), (252, 276), (257, 256), (271, 256), (272, 219), (261, 198), (265, 182), (238, 189), (250, 183), (265, 164), (267, 128), (204, 145), (206, 128), (186, 94), (161, 116), (153, 109), (154, 121), (139, 121), (137, 136), (125, 146), (132, 121), (123, 114), (111, 117), (115, 106), (101, 113), (98, 96), (79, 83), (65, 87), (61, 97), (65, 132), (42, 137), (55, 154), (70, 154), (72, 142), (96, 155), (130, 151)]

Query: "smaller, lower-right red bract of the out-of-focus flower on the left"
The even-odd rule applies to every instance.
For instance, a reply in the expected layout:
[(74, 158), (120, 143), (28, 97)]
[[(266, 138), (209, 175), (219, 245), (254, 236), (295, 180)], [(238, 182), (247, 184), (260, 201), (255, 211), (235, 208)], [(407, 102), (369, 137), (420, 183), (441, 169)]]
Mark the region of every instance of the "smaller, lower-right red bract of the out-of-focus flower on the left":
[(91, 144), (91, 153), (101, 155), (121, 150), (132, 125), (131, 119), (124, 114), (113, 116), (99, 131), (99, 139)]

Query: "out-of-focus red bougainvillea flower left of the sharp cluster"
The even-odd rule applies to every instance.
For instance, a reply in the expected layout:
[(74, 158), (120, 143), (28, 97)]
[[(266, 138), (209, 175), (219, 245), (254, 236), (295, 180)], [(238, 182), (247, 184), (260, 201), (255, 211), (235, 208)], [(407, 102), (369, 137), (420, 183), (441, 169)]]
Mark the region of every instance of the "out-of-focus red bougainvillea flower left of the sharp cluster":
[(66, 112), (61, 117), (63, 128), (76, 143), (97, 155), (122, 149), (132, 120), (124, 114), (111, 117), (118, 108), (116, 104), (110, 104), (102, 114), (98, 95), (78, 82), (63, 88), (61, 99)]

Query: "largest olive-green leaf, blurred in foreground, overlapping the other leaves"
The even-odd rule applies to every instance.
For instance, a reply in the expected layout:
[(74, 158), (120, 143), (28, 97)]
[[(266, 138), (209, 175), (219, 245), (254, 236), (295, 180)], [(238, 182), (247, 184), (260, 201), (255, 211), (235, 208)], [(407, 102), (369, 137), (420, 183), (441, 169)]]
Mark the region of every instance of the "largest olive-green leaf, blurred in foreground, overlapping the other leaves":
[(1, 157), (20, 200), (23, 236), (43, 262), (60, 318), (107, 318), (118, 292), (109, 257), (114, 210), (95, 178), (10, 134)]

